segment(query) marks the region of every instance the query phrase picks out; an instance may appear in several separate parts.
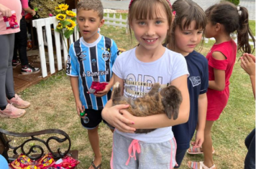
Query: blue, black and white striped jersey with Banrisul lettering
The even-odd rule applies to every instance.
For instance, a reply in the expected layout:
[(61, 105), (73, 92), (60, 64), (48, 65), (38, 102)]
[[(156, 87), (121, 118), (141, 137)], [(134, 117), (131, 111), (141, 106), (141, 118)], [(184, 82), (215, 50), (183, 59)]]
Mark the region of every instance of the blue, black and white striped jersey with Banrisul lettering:
[(66, 74), (78, 77), (79, 97), (86, 109), (102, 110), (111, 97), (111, 90), (103, 97), (88, 94), (93, 81), (109, 82), (118, 54), (114, 40), (100, 34), (96, 42), (88, 44), (81, 37), (71, 44)]

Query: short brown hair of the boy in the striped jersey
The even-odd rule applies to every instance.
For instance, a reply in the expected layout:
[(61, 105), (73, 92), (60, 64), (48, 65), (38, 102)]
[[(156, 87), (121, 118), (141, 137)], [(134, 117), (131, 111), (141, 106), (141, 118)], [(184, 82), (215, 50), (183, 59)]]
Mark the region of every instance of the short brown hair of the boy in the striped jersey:
[(103, 19), (104, 10), (100, 0), (81, 0), (76, 6), (76, 12), (79, 10), (93, 10), (98, 12), (100, 19)]

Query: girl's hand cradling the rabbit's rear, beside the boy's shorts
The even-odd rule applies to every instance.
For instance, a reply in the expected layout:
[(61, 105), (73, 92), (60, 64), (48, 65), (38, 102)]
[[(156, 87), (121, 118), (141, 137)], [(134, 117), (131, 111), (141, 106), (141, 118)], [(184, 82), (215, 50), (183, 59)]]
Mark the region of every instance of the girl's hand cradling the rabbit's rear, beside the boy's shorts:
[[(121, 132), (133, 133), (136, 129), (134, 127), (129, 127), (129, 125), (134, 124), (132, 120), (127, 119), (126, 109), (129, 105), (115, 105), (112, 107), (105, 107), (101, 112), (101, 116), (110, 125), (116, 127), (117, 130)], [(121, 111), (122, 110), (122, 111)]]

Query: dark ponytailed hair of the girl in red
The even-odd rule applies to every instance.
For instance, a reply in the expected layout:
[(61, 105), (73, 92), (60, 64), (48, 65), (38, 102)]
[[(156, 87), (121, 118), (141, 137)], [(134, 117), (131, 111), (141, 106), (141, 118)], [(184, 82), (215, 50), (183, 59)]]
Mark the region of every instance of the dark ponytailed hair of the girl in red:
[[(248, 11), (242, 6), (235, 6), (230, 2), (215, 4), (206, 9), (206, 16), (211, 24), (224, 26), (225, 32), (231, 34), (237, 31), (237, 51), (252, 53), (255, 49), (255, 38), (249, 26)], [(249, 44), (249, 35), (254, 43), (253, 51)]]

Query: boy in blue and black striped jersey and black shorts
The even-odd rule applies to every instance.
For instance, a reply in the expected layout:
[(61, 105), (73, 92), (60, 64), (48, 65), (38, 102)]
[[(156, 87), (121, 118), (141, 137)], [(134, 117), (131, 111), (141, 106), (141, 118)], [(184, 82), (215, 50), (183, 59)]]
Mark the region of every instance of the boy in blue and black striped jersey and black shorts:
[[(103, 15), (100, 0), (78, 2), (77, 22), (82, 37), (70, 46), (66, 70), (76, 100), (76, 111), (81, 117), (81, 124), (88, 130), (88, 138), (95, 155), (89, 169), (101, 167), (98, 127), (102, 120), (101, 110), (111, 97), (111, 68), (118, 54), (116, 43), (98, 32), (104, 24)], [(109, 84), (101, 92), (88, 94), (93, 81)], [(86, 115), (83, 116), (81, 112), (84, 111)]]

